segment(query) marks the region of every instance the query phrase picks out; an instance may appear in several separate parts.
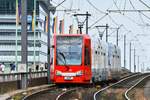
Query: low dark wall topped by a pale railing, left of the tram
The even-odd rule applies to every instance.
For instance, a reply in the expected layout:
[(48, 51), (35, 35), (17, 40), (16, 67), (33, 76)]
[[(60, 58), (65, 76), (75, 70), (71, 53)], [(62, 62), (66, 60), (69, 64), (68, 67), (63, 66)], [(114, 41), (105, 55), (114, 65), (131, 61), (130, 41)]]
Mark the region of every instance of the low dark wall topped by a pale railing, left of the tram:
[[(47, 72), (25, 73), (28, 75), (27, 87), (33, 87), (48, 83)], [(0, 94), (11, 92), (22, 88), (21, 73), (1, 74)]]

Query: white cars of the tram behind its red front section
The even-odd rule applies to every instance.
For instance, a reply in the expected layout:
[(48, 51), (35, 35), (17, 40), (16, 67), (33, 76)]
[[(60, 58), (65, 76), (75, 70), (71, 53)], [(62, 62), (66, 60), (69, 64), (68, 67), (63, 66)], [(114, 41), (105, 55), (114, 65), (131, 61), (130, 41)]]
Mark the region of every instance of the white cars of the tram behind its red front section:
[(94, 82), (120, 78), (120, 48), (101, 40), (92, 42), (92, 80)]

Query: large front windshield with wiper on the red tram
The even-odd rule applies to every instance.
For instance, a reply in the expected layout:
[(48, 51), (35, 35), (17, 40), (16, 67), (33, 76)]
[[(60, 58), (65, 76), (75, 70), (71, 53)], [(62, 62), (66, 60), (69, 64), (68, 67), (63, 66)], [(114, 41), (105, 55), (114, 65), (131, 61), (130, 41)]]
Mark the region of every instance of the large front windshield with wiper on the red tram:
[(82, 37), (57, 36), (57, 65), (81, 65)]

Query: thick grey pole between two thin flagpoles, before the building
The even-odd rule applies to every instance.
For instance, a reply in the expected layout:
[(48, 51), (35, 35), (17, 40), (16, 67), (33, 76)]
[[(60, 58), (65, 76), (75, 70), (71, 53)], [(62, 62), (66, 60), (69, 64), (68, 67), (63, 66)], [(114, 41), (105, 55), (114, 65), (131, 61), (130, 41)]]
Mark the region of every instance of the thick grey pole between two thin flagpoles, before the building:
[[(27, 72), (27, 0), (21, 0), (21, 12), (21, 63), (25, 65)], [(22, 75), (22, 88), (27, 88), (27, 75), (24, 73)]]

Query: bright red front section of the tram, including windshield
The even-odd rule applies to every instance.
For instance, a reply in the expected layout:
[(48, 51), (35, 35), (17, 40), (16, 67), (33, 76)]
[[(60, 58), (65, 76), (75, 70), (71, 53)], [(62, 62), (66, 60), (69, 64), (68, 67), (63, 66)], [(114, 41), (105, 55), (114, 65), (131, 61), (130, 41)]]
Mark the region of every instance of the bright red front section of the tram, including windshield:
[(55, 35), (54, 63), (50, 78), (54, 83), (90, 83), (91, 40), (88, 35)]

